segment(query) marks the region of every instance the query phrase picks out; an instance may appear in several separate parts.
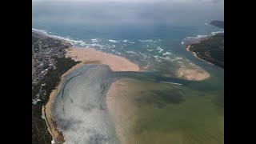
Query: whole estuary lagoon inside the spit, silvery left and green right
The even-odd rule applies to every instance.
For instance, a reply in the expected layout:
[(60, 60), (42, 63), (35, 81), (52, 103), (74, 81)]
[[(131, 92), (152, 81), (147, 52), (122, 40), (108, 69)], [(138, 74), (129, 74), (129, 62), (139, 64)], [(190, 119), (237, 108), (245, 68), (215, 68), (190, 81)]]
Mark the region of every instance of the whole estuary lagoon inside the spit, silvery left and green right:
[(65, 143), (181, 143), (197, 138), (217, 142), (203, 140), (206, 129), (214, 129), (206, 137), (219, 134), (222, 140), (223, 107), (214, 103), (219, 94), (191, 90), (188, 86), (193, 83), (200, 85), (147, 72), (114, 72), (106, 65), (85, 65), (66, 75), (52, 103), (52, 116)]

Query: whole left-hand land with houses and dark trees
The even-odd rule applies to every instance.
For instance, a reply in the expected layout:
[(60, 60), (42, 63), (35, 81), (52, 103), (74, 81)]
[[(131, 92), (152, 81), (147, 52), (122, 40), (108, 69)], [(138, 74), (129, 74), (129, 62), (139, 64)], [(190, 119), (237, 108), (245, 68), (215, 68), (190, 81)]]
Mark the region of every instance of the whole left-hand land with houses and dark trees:
[(72, 45), (32, 30), (32, 143), (63, 143), (49, 131), (44, 106), (50, 93), (56, 89), (62, 74), (78, 62), (66, 58), (66, 49)]

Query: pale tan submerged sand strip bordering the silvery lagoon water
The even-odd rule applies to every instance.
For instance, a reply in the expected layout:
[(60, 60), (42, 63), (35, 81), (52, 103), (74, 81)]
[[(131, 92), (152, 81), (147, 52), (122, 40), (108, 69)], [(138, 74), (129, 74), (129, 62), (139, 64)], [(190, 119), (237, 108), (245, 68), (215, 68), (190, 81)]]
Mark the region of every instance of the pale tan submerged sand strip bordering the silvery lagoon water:
[(131, 93), (134, 87), (127, 85), (126, 80), (118, 80), (110, 86), (106, 94), (106, 105), (112, 121), (114, 122), (116, 134), (122, 144), (134, 143), (134, 131), (131, 129), (136, 120), (134, 106), (129, 102), (132, 98), (126, 96), (127, 91)]

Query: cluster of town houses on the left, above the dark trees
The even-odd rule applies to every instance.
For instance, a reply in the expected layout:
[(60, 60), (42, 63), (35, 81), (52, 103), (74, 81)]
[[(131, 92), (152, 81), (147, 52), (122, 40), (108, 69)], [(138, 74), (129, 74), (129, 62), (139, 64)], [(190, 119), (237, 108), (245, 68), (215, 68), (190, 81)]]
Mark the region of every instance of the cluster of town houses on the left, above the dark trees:
[[(56, 69), (55, 58), (63, 58), (65, 49), (70, 46), (68, 42), (32, 32), (32, 90), (42, 82), (50, 69)], [(32, 99), (33, 104), (41, 102), (46, 97), (46, 90), (42, 89), (43, 86), (46, 86), (46, 83), (41, 84), (36, 98)]]

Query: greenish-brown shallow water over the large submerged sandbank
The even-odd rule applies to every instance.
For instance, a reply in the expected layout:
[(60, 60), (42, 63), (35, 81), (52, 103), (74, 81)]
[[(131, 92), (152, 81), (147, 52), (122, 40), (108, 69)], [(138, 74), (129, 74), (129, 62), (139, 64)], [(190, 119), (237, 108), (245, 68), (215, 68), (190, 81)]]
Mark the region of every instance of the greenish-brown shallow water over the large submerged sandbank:
[(224, 142), (222, 95), (133, 79), (115, 89), (110, 114), (124, 143)]

